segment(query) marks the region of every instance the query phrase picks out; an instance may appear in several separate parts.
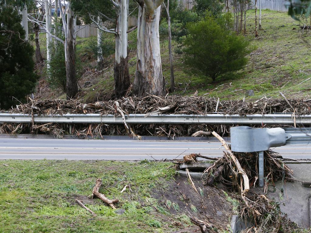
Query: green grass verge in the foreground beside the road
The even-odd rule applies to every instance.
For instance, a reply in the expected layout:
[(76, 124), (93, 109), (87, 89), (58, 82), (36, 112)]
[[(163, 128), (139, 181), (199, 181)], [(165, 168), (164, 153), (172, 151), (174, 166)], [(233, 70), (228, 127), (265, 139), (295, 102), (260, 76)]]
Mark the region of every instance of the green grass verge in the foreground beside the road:
[[(2, 165), (8, 165), (8, 167)], [(0, 164), (0, 232), (170, 232), (168, 209), (151, 198), (166, 189), (175, 170), (170, 163), (109, 161), (2, 161)], [(75, 204), (76, 195), (88, 196), (97, 178), (100, 192), (118, 198), (119, 215), (99, 199)], [(128, 189), (120, 191), (131, 184)], [(175, 206), (175, 208), (177, 208)], [(168, 216), (168, 217), (167, 217)], [(186, 216), (187, 217), (187, 216)], [(191, 225), (185, 216), (180, 222)]]

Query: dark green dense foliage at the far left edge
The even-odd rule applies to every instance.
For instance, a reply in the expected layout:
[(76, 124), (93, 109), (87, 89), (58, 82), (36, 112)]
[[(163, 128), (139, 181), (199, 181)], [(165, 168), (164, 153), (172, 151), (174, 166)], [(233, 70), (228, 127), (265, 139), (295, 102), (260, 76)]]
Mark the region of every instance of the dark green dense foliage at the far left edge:
[(0, 7), (0, 107), (9, 108), (30, 94), (37, 80), (34, 48), (26, 42), (17, 8)]

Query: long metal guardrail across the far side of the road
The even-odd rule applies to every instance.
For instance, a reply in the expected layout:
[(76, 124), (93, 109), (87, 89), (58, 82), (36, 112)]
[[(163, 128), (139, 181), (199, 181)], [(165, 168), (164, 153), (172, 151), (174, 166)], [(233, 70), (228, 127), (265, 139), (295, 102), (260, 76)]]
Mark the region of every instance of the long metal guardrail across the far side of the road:
[[(186, 115), (186, 114), (162, 114), (146, 117), (144, 114), (125, 115), (128, 124), (311, 124), (311, 115), (293, 117), (292, 114), (254, 114), (254, 115)], [(32, 117), (22, 113), (0, 113), (0, 122), (31, 123)], [(64, 115), (34, 115), (35, 123), (106, 123), (122, 124), (121, 116), (100, 114), (64, 114)]]

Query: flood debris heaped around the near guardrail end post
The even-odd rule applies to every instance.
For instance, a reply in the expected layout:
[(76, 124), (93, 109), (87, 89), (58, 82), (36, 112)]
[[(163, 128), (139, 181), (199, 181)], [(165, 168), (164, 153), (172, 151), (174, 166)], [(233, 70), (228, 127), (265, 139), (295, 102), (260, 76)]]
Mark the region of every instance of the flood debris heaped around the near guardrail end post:
[[(283, 182), (296, 180), (293, 177), (293, 171), (279, 160), (282, 157), (271, 150), (264, 152), (266, 177), (262, 193), (259, 190), (251, 189), (259, 182), (258, 153), (233, 153), (230, 146), (216, 132), (212, 134), (223, 144), (225, 152), (222, 158), (218, 158), (216, 162), (205, 169), (204, 173), (207, 173), (207, 178), (204, 180), (204, 184), (213, 186), (216, 181), (219, 181), (225, 188), (234, 191), (232, 195), (240, 203), (239, 216), (253, 223), (243, 232), (305, 232), (305, 229), (299, 228), (281, 212), (279, 203), (265, 195), (268, 185), (274, 185), (276, 180)], [(197, 161), (197, 157), (202, 156), (191, 154), (185, 156), (183, 162)], [(191, 177), (188, 176), (188, 179), (191, 182)]]

